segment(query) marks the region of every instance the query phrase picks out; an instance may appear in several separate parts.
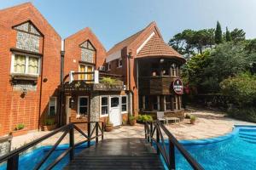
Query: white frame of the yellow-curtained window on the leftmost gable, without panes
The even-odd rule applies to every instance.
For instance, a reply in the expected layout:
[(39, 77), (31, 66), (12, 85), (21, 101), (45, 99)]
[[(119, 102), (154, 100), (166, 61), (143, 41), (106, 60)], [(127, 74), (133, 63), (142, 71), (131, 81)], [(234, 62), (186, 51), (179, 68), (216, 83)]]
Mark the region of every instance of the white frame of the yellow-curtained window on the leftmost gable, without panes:
[[(25, 61), (25, 73), (19, 73), (15, 72), (15, 55), (24, 55), (26, 57)], [(41, 57), (38, 57), (37, 55), (32, 55), (32, 54), (22, 54), (22, 53), (12, 53), (12, 59), (11, 59), (11, 70), (10, 72), (13, 74), (25, 74), (25, 75), (32, 75), (32, 76), (39, 76), (41, 73)], [(38, 58), (38, 73), (33, 74), (33, 73), (28, 73), (28, 63), (29, 63), (29, 58)]]

